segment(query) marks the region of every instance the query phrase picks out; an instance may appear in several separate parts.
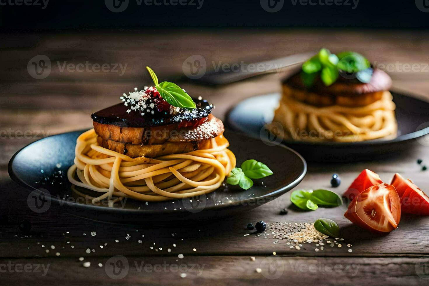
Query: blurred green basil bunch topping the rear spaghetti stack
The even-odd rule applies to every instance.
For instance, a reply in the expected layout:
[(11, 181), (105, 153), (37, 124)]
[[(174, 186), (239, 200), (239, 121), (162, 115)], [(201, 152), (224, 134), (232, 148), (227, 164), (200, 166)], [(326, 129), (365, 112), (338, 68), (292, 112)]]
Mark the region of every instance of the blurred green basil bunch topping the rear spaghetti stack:
[(371, 64), (363, 55), (351, 51), (335, 55), (322, 48), (318, 54), (302, 64), (301, 79), (305, 86), (311, 87), (317, 76), (320, 76), (322, 82), (329, 86), (343, 72), (355, 74), (356, 78), (364, 83), (368, 83), (372, 77)]

